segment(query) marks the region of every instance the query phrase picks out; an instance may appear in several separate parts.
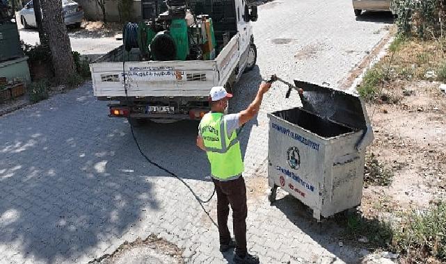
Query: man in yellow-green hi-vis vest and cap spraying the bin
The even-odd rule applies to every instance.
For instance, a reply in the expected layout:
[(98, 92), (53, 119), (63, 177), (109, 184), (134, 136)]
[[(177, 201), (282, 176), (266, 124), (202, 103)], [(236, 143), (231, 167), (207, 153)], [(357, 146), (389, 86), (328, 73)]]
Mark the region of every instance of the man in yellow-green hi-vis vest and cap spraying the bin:
[[(209, 93), (211, 112), (204, 115), (198, 126), (197, 146), (206, 151), (211, 164), (212, 181), (217, 193), (217, 223), (220, 251), (235, 247), (234, 263), (255, 264), (259, 258), (248, 254), (246, 248), (246, 185), (241, 175), (244, 163), (241, 158), (237, 129), (255, 117), (262, 104), (263, 95), (271, 83), (261, 83), (254, 101), (240, 113), (224, 115), (232, 94), (218, 86)], [(228, 229), (229, 205), (235, 241)]]

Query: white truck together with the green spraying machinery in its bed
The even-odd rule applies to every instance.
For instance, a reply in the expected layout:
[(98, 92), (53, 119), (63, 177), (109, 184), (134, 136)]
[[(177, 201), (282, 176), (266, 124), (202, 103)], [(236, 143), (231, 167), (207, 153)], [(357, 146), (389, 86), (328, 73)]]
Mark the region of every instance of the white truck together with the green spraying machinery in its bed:
[(200, 119), (213, 86), (233, 92), (255, 67), (253, 1), (142, 0), (141, 10), (141, 22), (124, 26), (123, 45), (90, 64), (110, 117), (135, 125)]

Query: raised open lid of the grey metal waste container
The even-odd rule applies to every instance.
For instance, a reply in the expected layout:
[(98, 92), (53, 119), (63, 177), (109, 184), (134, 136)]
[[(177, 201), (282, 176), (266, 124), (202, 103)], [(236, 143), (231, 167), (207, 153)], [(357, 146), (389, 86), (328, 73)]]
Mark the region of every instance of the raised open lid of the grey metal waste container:
[(363, 130), (363, 138), (358, 142), (357, 149), (372, 142), (372, 126), (365, 104), (358, 95), (306, 81), (294, 80), (294, 84), (303, 89), (303, 94), (299, 95), (304, 110), (351, 129)]

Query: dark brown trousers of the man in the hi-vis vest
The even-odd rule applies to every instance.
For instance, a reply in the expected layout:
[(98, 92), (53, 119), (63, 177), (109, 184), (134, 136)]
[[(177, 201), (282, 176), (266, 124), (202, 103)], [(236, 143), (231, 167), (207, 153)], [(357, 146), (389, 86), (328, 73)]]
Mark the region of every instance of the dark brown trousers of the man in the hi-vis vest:
[(214, 181), (217, 192), (217, 222), (220, 235), (220, 245), (228, 245), (231, 235), (228, 229), (229, 205), (232, 208), (232, 222), (237, 246), (235, 253), (246, 255), (246, 185), (243, 176), (232, 181)]

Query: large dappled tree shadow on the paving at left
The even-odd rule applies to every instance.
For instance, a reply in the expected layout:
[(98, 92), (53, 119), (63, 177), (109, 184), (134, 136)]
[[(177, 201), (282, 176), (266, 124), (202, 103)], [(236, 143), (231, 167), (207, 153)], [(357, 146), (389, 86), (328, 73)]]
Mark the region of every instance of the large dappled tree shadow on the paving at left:
[(128, 125), (106, 117), (90, 89), (73, 92), (74, 100), (60, 95), (1, 117), (0, 247), (6, 256), (73, 261), (120, 238), (144, 208), (159, 210), (148, 180), (159, 171), (132, 158), (138, 154)]

